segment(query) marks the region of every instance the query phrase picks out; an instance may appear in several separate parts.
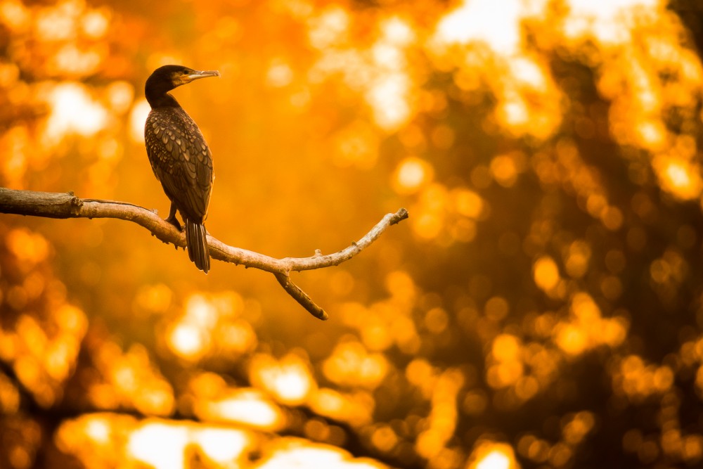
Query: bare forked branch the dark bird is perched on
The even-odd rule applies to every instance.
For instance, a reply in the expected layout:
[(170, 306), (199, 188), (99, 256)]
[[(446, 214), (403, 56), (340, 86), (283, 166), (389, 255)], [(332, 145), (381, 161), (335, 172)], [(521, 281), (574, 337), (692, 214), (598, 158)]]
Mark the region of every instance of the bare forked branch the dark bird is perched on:
[[(186, 247), (186, 236), (155, 212), (144, 207), (115, 200), (82, 199), (70, 193), (17, 191), (0, 187), (0, 213), (30, 215), (49, 218), (116, 218), (133, 221), (148, 229), (164, 243), (178, 248)], [(226, 245), (217, 238), (207, 235), (210, 257), (236, 265), (253, 267), (276, 276), (280, 286), (302, 307), (318, 319), (328, 319), (327, 313), (295, 283), (290, 280), (291, 271), (323, 269), (337, 266), (352, 259), (373, 243), (391, 225), (408, 218), (408, 211), (401, 208), (389, 213), (366, 233), (363, 238), (352, 241), (352, 245), (334, 254), (321, 255), (319, 250), (311, 257), (285, 257), (276, 259)]]

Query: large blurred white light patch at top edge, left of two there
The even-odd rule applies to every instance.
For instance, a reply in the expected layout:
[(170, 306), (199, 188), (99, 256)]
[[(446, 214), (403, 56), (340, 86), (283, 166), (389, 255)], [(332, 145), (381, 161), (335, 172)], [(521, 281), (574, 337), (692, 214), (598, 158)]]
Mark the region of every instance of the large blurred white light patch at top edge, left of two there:
[(445, 44), (484, 41), (496, 53), (509, 55), (520, 46), (520, 0), (465, 0), (439, 21), (437, 39)]

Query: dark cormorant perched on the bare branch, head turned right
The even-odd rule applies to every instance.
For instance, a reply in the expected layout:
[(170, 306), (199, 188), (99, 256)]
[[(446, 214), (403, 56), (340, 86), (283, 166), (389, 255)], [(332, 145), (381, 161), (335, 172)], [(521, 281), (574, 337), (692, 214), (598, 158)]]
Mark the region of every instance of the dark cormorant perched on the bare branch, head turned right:
[(217, 70), (193, 70), (181, 65), (157, 68), (146, 80), (146, 101), (151, 105), (144, 127), (146, 153), (156, 179), (171, 200), (166, 219), (181, 231), (176, 210), (186, 225), (188, 257), (207, 274), (210, 255), (203, 221), (212, 192), (212, 155), (191, 116), (168, 91), (195, 79), (219, 77)]

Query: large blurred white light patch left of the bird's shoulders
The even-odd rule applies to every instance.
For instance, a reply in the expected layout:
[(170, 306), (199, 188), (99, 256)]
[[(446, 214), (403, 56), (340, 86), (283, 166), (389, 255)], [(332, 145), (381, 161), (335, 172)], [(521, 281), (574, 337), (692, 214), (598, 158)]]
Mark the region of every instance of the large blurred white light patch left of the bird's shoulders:
[(66, 134), (91, 136), (107, 124), (108, 113), (93, 101), (85, 86), (77, 83), (56, 85), (49, 94), (51, 115), (46, 122), (46, 136), (53, 142)]

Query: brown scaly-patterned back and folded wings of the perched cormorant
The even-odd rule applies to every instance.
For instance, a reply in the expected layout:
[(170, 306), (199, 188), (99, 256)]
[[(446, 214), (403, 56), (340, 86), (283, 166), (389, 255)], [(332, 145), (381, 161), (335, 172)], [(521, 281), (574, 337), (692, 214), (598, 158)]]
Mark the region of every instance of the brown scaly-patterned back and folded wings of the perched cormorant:
[(205, 219), (212, 155), (195, 122), (182, 108), (152, 110), (145, 140), (151, 167), (166, 195), (192, 221)]

